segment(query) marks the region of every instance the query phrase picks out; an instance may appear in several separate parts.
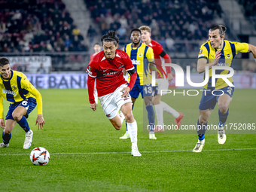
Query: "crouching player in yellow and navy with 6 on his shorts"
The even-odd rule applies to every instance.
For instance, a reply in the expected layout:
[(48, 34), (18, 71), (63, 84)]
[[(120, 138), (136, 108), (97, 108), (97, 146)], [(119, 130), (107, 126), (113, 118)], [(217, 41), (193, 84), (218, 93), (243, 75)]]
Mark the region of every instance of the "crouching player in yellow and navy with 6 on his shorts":
[[(29, 123), (26, 118), (29, 113), (38, 105), (38, 117), (35, 124), (38, 123), (38, 130), (44, 127), (44, 117), (42, 110), (41, 94), (29, 82), (22, 72), (11, 70), (11, 65), (8, 59), (0, 59), (0, 126), (5, 129), (2, 133), (3, 142), (0, 143), (0, 148), (8, 148), (11, 139), (11, 131), (18, 123), (26, 132), (24, 149), (30, 148), (32, 144), (33, 132), (29, 128)], [(9, 111), (4, 120), (4, 105), (3, 99), (11, 102)]]

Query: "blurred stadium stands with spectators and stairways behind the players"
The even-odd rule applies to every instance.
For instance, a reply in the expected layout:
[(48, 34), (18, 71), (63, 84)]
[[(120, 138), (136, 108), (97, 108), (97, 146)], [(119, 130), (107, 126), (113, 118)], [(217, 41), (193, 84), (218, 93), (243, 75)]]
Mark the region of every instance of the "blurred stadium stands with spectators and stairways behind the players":
[[(11, 57), (13, 69), (26, 74), (84, 73), (93, 45), (110, 29), (122, 49), (131, 29), (151, 26), (151, 38), (172, 59), (197, 58), (215, 24), (227, 26), (230, 41), (256, 44), (254, 0), (1, 0), (0, 6), (0, 56)], [(195, 62), (178, 63), (196, 72)], [(247, 60), (234, 69), (255, 72), (256, 66)]]

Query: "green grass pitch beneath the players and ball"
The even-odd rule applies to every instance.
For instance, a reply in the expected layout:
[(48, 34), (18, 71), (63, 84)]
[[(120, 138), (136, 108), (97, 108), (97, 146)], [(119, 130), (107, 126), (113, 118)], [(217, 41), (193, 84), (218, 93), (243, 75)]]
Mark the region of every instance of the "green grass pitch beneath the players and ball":
[[(228, 134), (224, 145), (218, 145), (217, 134), (206, 134), (200, 154), (190, 152), (197, 143), (196, 133), (157, 135), (152, 141), (143, 134), (143, 101), (138, 99), (133, 114), (139, 126), (139, 151), (176, 152), (132, 157), (130, 139), (118, 139), (125, 133), (124, 123), (120, 131), (114, 130), (100, 105), (92, 111), (87, 90), (40, 92), (45, 128), (38, 131), (34, 126), (35, 109), (28, 119), (34, 131), (32, 147), (24, 150), (25, 133), (20, 126), (14, 127), (10, 147), (0, 148), (1, 191), (255, 190), (256, 150), (207, 151), (255, 148), (254, 134)], [(182, 123), (197, 123), (200, 96), (173, 99), (169, 104), (185, 114)], [(254, 90), (236, 90), (227, 123), (255, 123), (255, 104)], [(6, 114), (8, 102), (4, 105)], [(209, 122), (218, 123), (218, 106)], [(29, 160), (32, 148), (39, 146), (50, 152), (47, 166), (33, 166)], [(97, 152), (117, 154), (92, 154)]]

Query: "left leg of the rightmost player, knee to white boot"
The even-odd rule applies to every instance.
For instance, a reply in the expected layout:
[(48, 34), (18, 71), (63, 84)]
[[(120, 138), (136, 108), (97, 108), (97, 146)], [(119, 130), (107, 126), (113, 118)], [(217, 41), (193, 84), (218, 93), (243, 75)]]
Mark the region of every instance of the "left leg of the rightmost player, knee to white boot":
[(197, 120), (198, 142), (193, 152), (201, 152), (203, 150), (203, 146), (205, 145), (205, 134), (206, 134), (207, 122), (212, 113), (212, 109), (199, 110), (199, 113), (200, 113), (200, 117)]

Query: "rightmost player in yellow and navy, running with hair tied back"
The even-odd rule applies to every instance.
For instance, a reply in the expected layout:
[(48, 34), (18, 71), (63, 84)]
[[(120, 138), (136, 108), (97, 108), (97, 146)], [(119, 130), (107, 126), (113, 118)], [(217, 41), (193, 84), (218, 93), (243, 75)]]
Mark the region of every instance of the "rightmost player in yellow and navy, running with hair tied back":
[[(194, 148), (194, 152), (201, 152), (205, 145), (205, 133), (207, 122), (209, 120), (212, 109), (215, 108), (218, 102), (218, 143), (223, 145), (226, 142), (227, 136), (225, 135), (224, 124), (226, 123), (229, 113), (229, 105), (232, 100), (234, 87), (230, 87), (222, 78), (217, 78), (215, 87), (212, 87), (212, 66), (229, 66), (233, 67), (233, 59), (237, 53), (251, 52), (256, 58), (256, 47), (251, 44), (230, 42), (224, 40), (226, 32), (225, 26), (212, 26), (209, 29), (209, 41), (202, 44), (197, 62), (197, 72), (205, 72), (206, 66), (209, 67), (209, 81), (203, 87), (202, 98), (199, 104), (200, 117), (197, 120), (197, 134), (198, 142)], [(216, 70), (218, 75), (227, 75), (229, 70)], [(233, 83), (232, 77), (228, 80)], [(215, 91), (214, 95), (212, 90)]]

